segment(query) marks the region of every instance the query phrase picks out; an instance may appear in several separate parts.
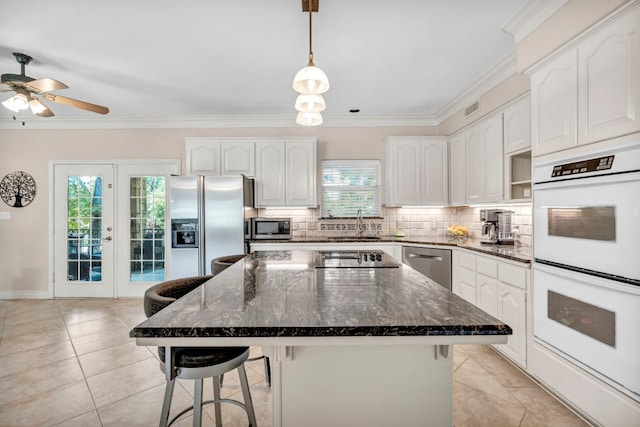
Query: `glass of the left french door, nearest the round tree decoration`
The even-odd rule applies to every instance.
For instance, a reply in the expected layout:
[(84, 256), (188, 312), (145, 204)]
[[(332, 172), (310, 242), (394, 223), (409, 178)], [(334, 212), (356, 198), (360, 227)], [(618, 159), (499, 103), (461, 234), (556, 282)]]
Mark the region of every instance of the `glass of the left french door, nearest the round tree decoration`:
[(67, 179), (67, 280), (102, 280), (102, 178)]

